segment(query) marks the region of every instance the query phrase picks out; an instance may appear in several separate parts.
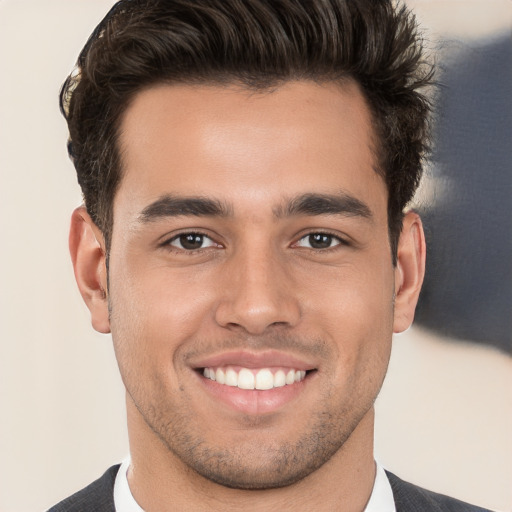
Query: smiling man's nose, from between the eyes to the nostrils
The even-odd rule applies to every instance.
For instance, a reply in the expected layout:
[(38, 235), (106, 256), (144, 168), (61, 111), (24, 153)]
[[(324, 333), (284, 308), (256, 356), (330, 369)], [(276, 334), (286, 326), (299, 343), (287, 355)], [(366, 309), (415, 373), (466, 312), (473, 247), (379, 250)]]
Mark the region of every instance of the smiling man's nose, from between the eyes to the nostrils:
[(216, 322), (252, 335), (263, 334), (270, 327), (296, 325), (300, 304), (286, 267), (268, 247), (238, 251), (223, 272)]

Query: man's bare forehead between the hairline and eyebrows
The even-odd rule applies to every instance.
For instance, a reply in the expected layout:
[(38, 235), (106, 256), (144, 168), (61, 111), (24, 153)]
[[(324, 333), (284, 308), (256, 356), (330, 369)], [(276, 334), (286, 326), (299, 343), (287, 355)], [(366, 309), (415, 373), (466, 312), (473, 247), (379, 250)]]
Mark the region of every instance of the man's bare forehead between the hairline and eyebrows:
[(121, 123), (123, 177), (114, 209), (164, 194), (213, 196), (275, 208), (283, 195), (350, 193), (387, 200), (375, 171), (371, 116), (354, 82), (159, 85)]

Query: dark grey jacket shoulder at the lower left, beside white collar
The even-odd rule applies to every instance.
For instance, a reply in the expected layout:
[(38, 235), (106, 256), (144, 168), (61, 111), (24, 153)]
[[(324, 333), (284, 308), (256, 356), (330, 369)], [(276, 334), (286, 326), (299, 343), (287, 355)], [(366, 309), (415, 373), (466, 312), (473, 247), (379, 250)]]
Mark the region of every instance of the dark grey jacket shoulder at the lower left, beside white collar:
[(48, 512), (114, 512), (114, 482), (119, 464), (81, 491), (53, 506)]

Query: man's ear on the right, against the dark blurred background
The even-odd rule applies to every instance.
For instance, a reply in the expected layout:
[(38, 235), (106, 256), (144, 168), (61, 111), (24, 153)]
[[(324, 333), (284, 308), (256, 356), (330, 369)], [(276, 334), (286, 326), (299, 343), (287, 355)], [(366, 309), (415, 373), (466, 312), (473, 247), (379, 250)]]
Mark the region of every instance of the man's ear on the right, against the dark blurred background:
[(405, 331), (414, 319), (414, 311), (425, 276), (425, 235), (417, 213), (409, 212), (403, 221), (398, 241), (395, 269), (395, 313), (393, 332)]

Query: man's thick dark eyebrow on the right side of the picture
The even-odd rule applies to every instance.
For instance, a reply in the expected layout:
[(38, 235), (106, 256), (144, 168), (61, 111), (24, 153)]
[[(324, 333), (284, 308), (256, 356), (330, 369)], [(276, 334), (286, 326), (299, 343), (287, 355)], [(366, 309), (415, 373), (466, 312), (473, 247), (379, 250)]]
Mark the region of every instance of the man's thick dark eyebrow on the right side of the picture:
[(370, 208), (361, 200), (342, 192), (340, 194), (303, 194), (288, 201), (284, 207), (274, 209), (274, 215), (346, 215), (373, 218)]

